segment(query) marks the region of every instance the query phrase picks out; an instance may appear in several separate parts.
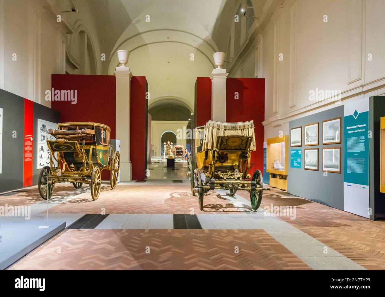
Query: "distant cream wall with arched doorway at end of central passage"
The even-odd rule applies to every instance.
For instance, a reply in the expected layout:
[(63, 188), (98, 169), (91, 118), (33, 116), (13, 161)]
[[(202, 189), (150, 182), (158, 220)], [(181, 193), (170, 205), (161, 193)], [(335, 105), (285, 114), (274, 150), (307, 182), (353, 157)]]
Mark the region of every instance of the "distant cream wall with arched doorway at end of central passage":
[[(186, 148), (186, 135), (178, 139), (178, 129), (187, 127), (188, 121), (152, 121), (151, 122), (151, 144), (155, 147), (156, 155), (161, 155), (161, 137), (163, 132), (172, 131), (177, 137), (177, 144), (183, 145)], [(175, 144), (175, 143), (174, 143)]]

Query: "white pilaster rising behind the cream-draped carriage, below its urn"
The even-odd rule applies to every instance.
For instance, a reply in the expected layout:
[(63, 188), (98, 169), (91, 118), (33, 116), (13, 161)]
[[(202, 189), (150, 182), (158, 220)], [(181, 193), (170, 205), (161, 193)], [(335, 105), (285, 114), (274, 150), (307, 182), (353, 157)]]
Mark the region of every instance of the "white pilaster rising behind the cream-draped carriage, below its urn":
[(211, 73), (211, 119), (226, 122), (226, 69), (216, 68)]

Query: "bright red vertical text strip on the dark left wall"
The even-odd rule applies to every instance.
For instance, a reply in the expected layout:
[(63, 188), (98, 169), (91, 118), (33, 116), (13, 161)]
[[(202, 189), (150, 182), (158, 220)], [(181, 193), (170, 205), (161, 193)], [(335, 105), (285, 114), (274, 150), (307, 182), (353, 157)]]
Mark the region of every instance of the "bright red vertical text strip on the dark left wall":
[(23, 187), (32, 186), (33, 102), (24, 99)]

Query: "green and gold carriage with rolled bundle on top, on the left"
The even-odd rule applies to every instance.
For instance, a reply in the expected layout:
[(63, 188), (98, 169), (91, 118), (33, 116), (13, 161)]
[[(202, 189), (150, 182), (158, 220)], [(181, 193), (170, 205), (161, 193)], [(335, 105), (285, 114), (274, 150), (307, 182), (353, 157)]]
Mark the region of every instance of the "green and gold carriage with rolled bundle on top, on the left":
[[(110, 171), (110, 186), (116, 187), (120, 154), (110, 145), (111, 129), (103, 124), (71, 122), (58, 124), (58, 130), (48, 133), (56, 140), (47, 140), (50, 150), (50, 166), (45, 166), (39, 175), (38, 188), (43, 199), (49, 199), (55, 184), (70, 182), (76, 189), (83, 184), (91, 187), (91, 197), (99, 197), (102, 170)], [(55, 162), (57, 166), (55, 166)]]

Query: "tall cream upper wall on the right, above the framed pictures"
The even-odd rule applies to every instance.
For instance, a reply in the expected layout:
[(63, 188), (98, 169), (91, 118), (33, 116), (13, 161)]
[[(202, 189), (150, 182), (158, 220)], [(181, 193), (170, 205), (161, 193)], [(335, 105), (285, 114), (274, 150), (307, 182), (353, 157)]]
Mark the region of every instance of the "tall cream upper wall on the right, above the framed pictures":
[[(341, 90), (341, 104), (385, 93), (384, 12), (383, 0), (266, 1), (243, 55), (228, 67), (230, 76), (266, 79), (265, 138), (287, 135), (290, 120), (335, 106), (310, 101), (316, 88)], [(247, 62), (253, 55), (254, 68)]]

